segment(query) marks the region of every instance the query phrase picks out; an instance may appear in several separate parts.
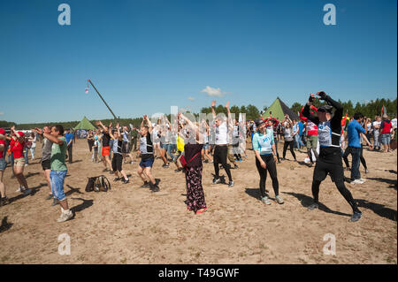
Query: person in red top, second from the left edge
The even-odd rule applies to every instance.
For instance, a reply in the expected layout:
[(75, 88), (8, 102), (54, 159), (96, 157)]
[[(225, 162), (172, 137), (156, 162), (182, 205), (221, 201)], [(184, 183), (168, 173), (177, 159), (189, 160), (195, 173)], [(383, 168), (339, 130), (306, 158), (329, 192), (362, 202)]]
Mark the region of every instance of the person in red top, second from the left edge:
[(14, 171), (15, 177), (19, 182), (19, 192), (24, 194), (30, 194), (32, 191), (27, 186), (27, 179), (24, 177), (25, 168), (25, 157), (24, 157), (24, 145), (25, 145), (25, 133), (16, 132), (15, 126), (11, 127), (11, 152), (14, 154)]

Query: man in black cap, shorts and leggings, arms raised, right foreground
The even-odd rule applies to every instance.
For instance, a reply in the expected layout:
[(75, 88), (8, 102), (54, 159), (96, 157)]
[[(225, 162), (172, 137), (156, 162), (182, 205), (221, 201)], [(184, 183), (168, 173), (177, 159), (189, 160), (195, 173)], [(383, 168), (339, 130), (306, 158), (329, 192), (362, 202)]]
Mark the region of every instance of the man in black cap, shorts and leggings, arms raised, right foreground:
[[(354, 214), (351, 222), (356, 222), (362, 217), (362, 213), (358, 210), (351, 192), (344, 184), (344, 170), (341, 161), (341, 118), (343, 107), (340, 103), (335, 102), (324, 91), (318, 92), (320, 100), (324, 100), (328, 105), (318, 109), (318, 117), (310, 114), (310, 106), (315, 100), (315, 95), (311, 94), (309, 101), (306, 103), (302, 115), (308, 118), (318, 126), (318, 140), (320, 144), (319, 156), (314, 169), (312, 179), (312, 195), (314, 202), (308, 207), (309, 210), (318, 209), (318, 194), (321, 182), (329, 173), (339, 192), (351, 206)], [(333, 108), (336, 109), (333, 114)], [(333, 118), (332, 118), (333, 114)]]

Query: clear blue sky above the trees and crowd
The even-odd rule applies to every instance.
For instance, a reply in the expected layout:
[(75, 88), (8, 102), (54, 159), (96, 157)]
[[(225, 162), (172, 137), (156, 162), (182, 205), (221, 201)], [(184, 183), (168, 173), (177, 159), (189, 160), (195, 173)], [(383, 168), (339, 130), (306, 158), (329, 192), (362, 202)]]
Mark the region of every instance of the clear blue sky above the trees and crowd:
[[(57, 23), (59, 4), (71, 26)], [(336, 6), (325, 26), (323, 7)], [(17, 123), (397, 95), (396, 1), (0, 2), (0, 119)], [(202, 92), (218, 89), (222, 97)], [(217, 93), (212, 90), (209, 93)]]

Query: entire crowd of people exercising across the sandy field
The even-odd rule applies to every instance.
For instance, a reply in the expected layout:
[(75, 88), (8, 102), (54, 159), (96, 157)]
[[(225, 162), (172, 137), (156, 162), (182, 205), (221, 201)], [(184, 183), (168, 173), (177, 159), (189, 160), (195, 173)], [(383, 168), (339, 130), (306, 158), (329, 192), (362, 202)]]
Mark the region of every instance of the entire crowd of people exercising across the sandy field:
[[(175, 173), (183, 172), (187, 186), (187, 210), (195, 214), (207, 210), (203, 193), (203, 163), (214, 167), (212, 185), (226, 184), (234, 186), (233, 171), (239, 169), (238, 163), (247, 158), (247, 145), (251, 142), (251, 149), (256, 157), (256, 170), (259, 174), (259, 191), (261, 201), (266, 205), (272, 204), (265, 190), (267, 173), (272, 179), (275, 201), (283, 204), (279, 195), (278, 165), (287, 161), (287, 149), (298, 162), (295, 151), (304, 147), (309, 158), (308, 166), (314, 163), (312, 178), (313, 203), (309, 210), (318, 208), (318, 194), (321, 182), (330, 175), (339, 192), (346, 199), (353, 210), (351, 221), (362, 217), (352, 194), (345, 186), (348, 181), (352, 184), (363, 184), (359, 165), (362, 163), (366, 173), (369, 170), (364, 160), (364, 142), (370, 150), (390, 152), (391, 141), (396, 141), (396, 117), (390, 120), (387, 115), (375, 117), (373, 121), (357, 112), (352, 118), (343, 118), (343, 108), (325, 92), (318, 92), (318, 98), (325, 101), (325, 105), (315, 108), (312, 103), (316, 98), (311, 94), (309, 101), (302, 108), (300, 119), (285, 115), (283, 120), (272, 117), (256, 118), (254, 121), (233, 118), (226, 103), (226, 112), (217, 113), (216, 101), (211, 104), (211, 118), (193, 121), (187, 114), (179, 113), (171, 121), (165, 116), (157, 118), (152, 123), (144, 115), (142, 124), (105, 126), (101, 121), (96, 122), (97, 129), (88, 131), (88, 149), (94, 163), (102, 162), (103, 172), (113, 174), (113, 181), (123, 184), (131, 183), (124, 164), (134, 164), (137, 157), (141, 158), (136, 173), (142, 179), (142, 188), (149, 188), (153, 193), (160, 191), (159, 181), (155, 179), (153, 164), (156, 159), (161, 160), (162, 168), (175, 166)], [(382, 119), (382, 120), (381, 120)], [(349, 122), (348, 122), (349, 120)], [(393, 136), (393, 138), (391, 137)], [(64, 181), (67, 173), (66, 159), (73, 163), (73, 130), (63, 126), (44, 126), (34, 128), (27, 136), (11, 127), (6, 133), (0, 128), (0, 193), (1, 205), (9, 203), (4, 185), (4, 170), (11, 166), (12, 175), (18, 180), (18, 191), (23, 194), (31, 193), (24, 168), (28, 164), (27, 152), (31, 152), (31, 160), (35, 158), (35, 147), (38, 139), (42, 142), (42, 171), (49, 187), (47, 200), (53, 200), (52, 205), (59, 204), (61, 215), (58, 222), (64, 222), (73, 217), (64, 193)], [(346, 146), (348, 140), (348, 146)], [(279, 156), (278, 143), (283, 141), (282, 157)], [(383, 146), (383, 148), (381, 147)], [(135, 154), (135, 156), (134, 156)], [(352, 156), (351, 166), (348, 156)], [(6, 161), (8, 156), (8, 161)], [(345, 179), (342, 160), (346, 169), (351, 172), (350, 179)], [(226, 172), (227, 180), (220, 175), (220, 169)]]

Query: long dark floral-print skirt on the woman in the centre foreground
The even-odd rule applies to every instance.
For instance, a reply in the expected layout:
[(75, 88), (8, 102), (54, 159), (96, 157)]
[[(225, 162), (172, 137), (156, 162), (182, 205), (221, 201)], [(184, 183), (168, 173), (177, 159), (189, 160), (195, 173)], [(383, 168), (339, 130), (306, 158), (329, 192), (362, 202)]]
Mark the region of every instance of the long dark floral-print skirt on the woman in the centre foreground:
[(185, 174), (187, 182), (187, 208), (188, 210), (201, 210), (206, 208), (202, 187), (202, 167), (187, 168)]

